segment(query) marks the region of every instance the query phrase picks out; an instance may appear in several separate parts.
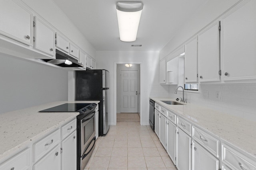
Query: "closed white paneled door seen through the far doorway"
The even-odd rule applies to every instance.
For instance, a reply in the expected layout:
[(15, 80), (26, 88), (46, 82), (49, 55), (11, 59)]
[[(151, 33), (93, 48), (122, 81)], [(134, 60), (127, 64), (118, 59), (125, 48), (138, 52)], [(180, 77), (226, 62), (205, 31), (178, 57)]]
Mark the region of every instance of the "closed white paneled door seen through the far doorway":
[(138, 70), (121, 70), (121, 113), (138, 113)]

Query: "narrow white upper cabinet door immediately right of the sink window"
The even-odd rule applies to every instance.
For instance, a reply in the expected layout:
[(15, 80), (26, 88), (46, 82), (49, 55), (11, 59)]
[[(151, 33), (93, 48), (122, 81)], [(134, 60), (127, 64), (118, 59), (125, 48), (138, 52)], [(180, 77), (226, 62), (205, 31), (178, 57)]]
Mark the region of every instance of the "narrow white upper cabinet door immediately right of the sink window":
[(184, 82), (197, 82), (197, 37), (185, 44)]

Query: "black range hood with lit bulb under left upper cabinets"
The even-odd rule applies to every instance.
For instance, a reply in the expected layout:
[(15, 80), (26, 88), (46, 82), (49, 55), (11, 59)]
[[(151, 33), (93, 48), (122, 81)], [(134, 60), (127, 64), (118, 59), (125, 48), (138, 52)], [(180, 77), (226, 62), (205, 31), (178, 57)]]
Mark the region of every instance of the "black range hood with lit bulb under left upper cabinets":
[(56, 59), (42, 59), (50, 64), (54, 64), (61, 67), (83, 67), (83, 64), (78, 63), (77, 59), (74, 59), (70, 55), (63, 53), (62, 51), (56, 49)]

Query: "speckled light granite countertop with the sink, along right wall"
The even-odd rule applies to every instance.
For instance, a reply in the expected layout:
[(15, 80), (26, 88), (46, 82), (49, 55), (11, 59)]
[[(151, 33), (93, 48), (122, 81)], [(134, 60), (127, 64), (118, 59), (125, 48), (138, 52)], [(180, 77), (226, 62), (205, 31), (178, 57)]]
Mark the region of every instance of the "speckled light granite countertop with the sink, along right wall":
[(161, 100), (170, 98), (150, 97), (156, 103), (184, 117), (198, 127), (213, 133), (245, 152), (256, 156), (256, 122), (209, 109), (195, 104), (168, 105)]

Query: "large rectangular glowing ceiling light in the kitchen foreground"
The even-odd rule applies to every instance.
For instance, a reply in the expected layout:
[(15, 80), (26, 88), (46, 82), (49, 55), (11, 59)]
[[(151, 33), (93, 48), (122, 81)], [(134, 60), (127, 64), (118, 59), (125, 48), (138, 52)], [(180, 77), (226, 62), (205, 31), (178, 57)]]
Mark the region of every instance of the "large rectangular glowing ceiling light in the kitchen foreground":
[(116, 13), (121, 41), (132, 42), (136, 40), (142, 9), (142, 2), (122, 1), (116, 3)]

